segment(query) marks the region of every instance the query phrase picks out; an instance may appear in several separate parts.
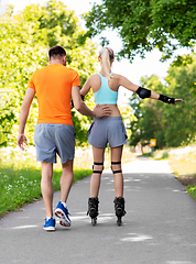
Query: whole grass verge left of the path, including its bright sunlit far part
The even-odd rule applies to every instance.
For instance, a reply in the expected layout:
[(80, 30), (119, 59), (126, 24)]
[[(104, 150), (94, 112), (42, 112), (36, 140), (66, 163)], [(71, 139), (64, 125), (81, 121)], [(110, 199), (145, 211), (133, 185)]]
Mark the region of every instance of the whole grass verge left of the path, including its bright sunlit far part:
[[(124, 147), (122, 163), (131, 162), (133, 155), (129, 147)], [(91, 174), (91, 148), (76, 151), (74, 166), (74, 182)], [(105, 155), (105, 167), (110, 166), (109, 152)], [(54, 165), (54, 191), (59, 190), (62, 165), (58, 161)], [(18, 148), (0, 148), (0, 218), (18, 210), (25, 204), (41, 199), (41, 165), (35, 161), (34, 147), (26, 153)]]

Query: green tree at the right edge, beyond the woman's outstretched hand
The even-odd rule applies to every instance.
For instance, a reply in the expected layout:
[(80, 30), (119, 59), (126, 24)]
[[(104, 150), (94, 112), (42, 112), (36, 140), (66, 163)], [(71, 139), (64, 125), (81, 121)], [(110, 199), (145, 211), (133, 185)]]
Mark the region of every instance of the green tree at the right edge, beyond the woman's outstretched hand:
[(171, 67), (165, 78), (167, 88), (175, 98), (183, 98), (185, 103), (178, 103), (170, 111), (164, 112), (166, 130), (165, 140), (167, 145), (178, 146), (188, 144), (196, 136), (196, 102), (195, 102), (195, 79), (196, 57), (188, 66)]

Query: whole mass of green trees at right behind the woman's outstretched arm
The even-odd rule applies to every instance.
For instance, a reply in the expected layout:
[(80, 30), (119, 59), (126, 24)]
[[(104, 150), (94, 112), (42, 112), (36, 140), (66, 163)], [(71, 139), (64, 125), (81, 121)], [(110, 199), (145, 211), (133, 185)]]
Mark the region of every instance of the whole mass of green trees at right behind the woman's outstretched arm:
[(142, 78), (142, 86), (174, 98), (182, 98), (185, 102), (170, 106), (157, 100), (140, 100), (135, 95), (131, 98), (137, 121), (130, 123), (132, 136), (130, 144), (149, 144), (150, 139), (156, 139), (156, 147), (179, 146), (188, 144), (196, 136), (196, 102), (195, 79), (196, 58), (189, 66), (171, 66), (162, 85), (156, 76)]

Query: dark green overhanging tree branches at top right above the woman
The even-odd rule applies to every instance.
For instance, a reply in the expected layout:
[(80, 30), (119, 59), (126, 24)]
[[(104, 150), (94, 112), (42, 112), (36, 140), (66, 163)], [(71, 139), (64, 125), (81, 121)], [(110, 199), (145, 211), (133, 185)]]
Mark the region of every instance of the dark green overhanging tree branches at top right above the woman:
[(154, 47), (166, 59), (178, 47), (193, 48), (196, 41), (195, 0), (102, 0), (85, 20), (90, 36), (117, 30), (122, 40), (119, 57), (130, 61)]

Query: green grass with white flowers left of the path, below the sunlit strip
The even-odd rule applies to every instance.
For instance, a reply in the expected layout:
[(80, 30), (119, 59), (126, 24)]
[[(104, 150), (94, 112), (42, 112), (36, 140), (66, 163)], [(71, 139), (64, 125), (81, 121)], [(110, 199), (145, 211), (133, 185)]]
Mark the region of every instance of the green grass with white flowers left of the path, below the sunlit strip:
[[(21, 206), (33, 202), (42, 197), (41, 170), (36, 167), (26, 168), (7, 167), (2, 164), (0, 168), (0, 218)], [(75, 169), (74, 182), (91, 174), (91, 169)], [(59, 190), (59, 178), (62, 172), (54, 170), (54, 190)]]

